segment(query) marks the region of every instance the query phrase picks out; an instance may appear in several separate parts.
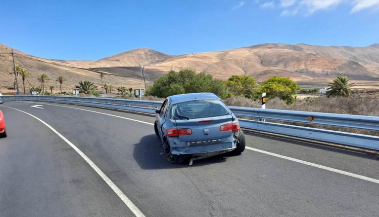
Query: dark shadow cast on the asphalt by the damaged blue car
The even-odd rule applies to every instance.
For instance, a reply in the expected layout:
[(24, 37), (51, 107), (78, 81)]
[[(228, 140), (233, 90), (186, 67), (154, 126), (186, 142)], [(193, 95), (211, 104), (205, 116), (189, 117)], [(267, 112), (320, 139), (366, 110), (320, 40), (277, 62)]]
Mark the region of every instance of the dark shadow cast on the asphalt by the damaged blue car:
[(220, 154), (193, 162), (189, 166), (190, 159), (186, 159), (183, 164), (172, 164), (166, 160), (164, 154), (160, 154), (163, 150), (160, 140), (155, 134), (147, 135), (141, 138), (140, 142), (134, 144), (133, 156), (140, 167), (144, 170), (156, 169), (172, 169), (172, 168), (186, 168), (186, 167), (199, 167), (209, 164), (223, 163), (231, 156), (230, 153)]

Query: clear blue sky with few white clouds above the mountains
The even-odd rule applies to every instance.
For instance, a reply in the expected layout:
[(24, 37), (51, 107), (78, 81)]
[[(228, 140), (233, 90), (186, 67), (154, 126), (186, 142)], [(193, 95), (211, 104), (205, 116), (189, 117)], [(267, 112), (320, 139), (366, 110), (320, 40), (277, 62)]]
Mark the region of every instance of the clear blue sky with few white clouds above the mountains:
[(50, 59), (272, 42), (379, 43), (379, 0), (0, 0), (0, 43)]

